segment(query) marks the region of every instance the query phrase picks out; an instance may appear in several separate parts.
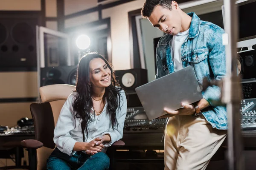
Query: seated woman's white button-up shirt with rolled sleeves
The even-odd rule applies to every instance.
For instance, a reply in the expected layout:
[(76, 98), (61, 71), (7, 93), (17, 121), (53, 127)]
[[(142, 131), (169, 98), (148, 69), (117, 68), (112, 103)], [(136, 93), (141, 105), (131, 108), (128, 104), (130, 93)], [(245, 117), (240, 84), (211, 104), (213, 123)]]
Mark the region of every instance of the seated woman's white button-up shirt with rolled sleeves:
[[(88, 136), (86, 136), (86, 132), (84, 133), (84, 136), (85, 139), (87, 137), (88, 138), (85, 142), (90, 142), (97, 137), (109, 134), (111, 136), (111, 142), (105, 144), (105, 148), (102, 150), (102, 152), (105, 152), (107, 147), (111, 146), (114, 142), (122, 139), (123, 127), (127, 111), (127, 101), (125, 92), (123, 90), (120, 91), (120, 96), (120, 108), (118, 107), (116, 109), (116, 119), (119, 126), (114, 130), (111, 126), (111, 118), (106, 111), (107, 101), (105, 108), (99, 116), (94, 116), (93, 108), (91, 109), (91, 117), (94, 118), (94, 121), (90, 122), (87, 126)], [(75, 118), (73, 114), (72, 103), (74, 101), (74, 97), (74, 93), (70, 94), (64, 103), (54, 129), (53, 137), (53, 141), (58, 149), (63, 153), (67, 153), (69, 156), (72, 156), (74, 153), (76, 153), (73, 151), (75, 143), (83, 142), (80, 125), (81, 119)]]

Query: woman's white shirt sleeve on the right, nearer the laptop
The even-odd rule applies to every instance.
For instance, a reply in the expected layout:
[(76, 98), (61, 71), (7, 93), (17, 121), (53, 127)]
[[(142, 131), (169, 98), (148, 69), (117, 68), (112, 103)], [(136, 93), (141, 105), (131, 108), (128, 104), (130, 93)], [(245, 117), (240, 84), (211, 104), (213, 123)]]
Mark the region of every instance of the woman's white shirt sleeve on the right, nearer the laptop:
[(110, 128), (108, 131), (102, 133), (103, 135), (109, 134), (111, 136), (111, 141), (105, 144), (105, 147), (111, 146), (116, 141), (122, 139), (123, 129), (125, 124), (125, 117), (127, 112), (127, 101), (125, 96), (125, 91), (120, 91), (120, 107), (116, 109), (116, 119), (118, 126), (116, 128)]

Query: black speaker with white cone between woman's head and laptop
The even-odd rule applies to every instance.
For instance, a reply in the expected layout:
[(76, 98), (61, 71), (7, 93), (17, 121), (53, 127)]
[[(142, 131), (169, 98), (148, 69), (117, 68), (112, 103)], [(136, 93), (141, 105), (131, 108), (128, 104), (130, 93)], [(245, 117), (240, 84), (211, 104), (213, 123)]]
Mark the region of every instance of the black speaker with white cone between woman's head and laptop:
[(127, 93), (135, 92), (135, 88), (148, 82), (148, 72), (142, 68), (117, 70), (115, 71), (115, 75), (116, 80)]

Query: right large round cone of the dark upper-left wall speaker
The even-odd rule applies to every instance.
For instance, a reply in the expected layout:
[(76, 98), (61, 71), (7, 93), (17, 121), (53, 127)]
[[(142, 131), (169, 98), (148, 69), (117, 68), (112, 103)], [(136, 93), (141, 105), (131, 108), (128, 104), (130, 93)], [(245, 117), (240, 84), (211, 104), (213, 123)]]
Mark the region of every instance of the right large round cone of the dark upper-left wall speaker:
[(27, 23), (18, 23), (12, 30), (12, 37), (16, 42), (29, 44), (33, 38), (33, 30)]

